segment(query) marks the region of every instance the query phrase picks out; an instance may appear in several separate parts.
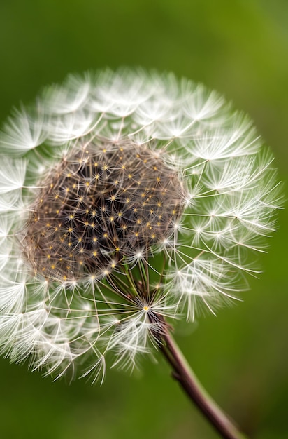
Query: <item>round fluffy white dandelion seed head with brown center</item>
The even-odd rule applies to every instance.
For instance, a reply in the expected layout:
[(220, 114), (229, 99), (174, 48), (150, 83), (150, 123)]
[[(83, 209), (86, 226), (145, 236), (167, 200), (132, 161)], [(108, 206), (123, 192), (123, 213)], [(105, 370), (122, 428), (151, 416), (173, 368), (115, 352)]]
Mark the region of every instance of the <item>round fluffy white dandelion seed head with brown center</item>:
[(251, 121), (173, 74), (106, 70), (43, 90), (0, 142), (2, 355), (95, 381), (161, 349), (187, 387), (173, 320), (237, 298), (275, 230)]

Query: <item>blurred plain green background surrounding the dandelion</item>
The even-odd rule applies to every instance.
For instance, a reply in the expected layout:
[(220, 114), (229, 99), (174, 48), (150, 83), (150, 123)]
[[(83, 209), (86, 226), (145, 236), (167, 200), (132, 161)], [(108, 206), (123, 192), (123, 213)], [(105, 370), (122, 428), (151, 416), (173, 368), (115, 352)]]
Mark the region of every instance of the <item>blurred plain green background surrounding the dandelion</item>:
[[(287, 0), (1, 0), (0, 120), (68, 72), (131, 65), (206, 83), (254, 119), (288, 170)], [(286, 184), (287, 186), (287, 184)], [(180, 327), (206, 389), (251, 438), (288, 438), (288, 210), (244, 302)], [(0, 360), (1, 438), (213, 439), (158, 358), (102, 387)]]

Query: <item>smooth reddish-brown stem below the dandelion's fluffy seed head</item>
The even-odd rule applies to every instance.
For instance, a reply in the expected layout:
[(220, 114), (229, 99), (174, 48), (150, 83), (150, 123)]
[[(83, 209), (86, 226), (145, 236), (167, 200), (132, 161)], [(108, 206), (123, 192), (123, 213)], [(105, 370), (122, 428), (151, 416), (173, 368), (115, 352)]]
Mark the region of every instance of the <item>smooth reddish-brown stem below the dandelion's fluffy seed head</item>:
[(173, 367), (173, 378), (175, 378), (187, 396), (199, 407), (199, 410), (216, 428), (219, 435), (224, 439), (245, 439), (246, 436), (238, 431), (233, 421), (218, 407), (215, 401), (208, 395), (203, 386), (196, 378), (187, 360), (171, 334), (166, 330), (162, 335), (163, 343), (160, 349), (168, 363)]

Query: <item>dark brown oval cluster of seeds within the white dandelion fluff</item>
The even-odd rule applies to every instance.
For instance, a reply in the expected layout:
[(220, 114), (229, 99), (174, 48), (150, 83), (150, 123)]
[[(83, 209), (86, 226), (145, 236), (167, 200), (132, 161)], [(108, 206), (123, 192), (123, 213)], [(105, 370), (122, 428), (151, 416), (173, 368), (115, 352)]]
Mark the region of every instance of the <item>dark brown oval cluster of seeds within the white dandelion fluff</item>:
[(185, 201), (163, 156), (131, 142), (78, 147), (41, 187), (22, 244), (36, 273), (60, 281), (103, 277), (139, 250), (149, 255), (173, 234)]

